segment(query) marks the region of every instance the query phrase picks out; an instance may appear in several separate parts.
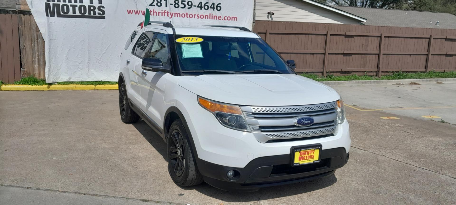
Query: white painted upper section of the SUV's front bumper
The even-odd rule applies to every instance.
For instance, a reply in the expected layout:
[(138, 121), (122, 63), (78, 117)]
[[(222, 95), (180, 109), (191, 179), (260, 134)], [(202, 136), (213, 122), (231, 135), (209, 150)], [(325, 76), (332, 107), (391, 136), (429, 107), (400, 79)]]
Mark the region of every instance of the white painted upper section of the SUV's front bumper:
[[(193, 102), (193, 101), (192, 101)], [(196, 102), (196, 100), (195, 100)], [(197, 157), (204, 161), (228, 167), (246, 167), (252, 160), (267, 156), (290, 154), (293, 146), (321, 144), (322, 149), (342, 147), (350, 151), (350, 128), (347, 120), (337, 125), (334, 135), (322, 138), (260, 143), (254, 133), (224, 127), (214, 115), (199, 104), (188, 105), (191, 113), (187, 123), (193, 136)]]

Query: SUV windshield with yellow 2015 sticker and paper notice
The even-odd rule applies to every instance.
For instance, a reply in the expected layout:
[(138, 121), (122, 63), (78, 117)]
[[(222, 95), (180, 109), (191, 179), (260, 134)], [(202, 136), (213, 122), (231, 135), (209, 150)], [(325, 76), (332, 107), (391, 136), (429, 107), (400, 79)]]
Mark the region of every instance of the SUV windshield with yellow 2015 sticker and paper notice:
[[(196, 37), (196, 43), (182, 43)], [(260, 38), (176, 35), (181, 72), (202, 74), (294, 73)]]

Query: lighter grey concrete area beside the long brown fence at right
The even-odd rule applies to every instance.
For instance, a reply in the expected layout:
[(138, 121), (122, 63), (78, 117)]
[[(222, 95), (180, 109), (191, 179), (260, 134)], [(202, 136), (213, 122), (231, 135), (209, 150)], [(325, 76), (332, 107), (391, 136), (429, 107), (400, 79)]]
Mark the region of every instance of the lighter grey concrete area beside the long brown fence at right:
[(421, 85), (383, 83), (332, 85), (331, 87), (339, 92), (346, 105), (352, 106), (354, 109), (378, 109), (399, 118), (407, 116), (422, 120), (440, 121), (443, 119), (448, 123), (456, 124), (456, 81), (446, 81), (442, 84), (435, 82), (421, 82)]

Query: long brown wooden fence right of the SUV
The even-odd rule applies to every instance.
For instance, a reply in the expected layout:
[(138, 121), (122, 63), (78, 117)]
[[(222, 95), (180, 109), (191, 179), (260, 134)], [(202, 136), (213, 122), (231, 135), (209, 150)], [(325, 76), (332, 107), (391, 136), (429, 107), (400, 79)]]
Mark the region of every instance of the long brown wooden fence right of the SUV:
[(254, 32), (296, 72), (456, 71), (456, 30), (257, 20)]

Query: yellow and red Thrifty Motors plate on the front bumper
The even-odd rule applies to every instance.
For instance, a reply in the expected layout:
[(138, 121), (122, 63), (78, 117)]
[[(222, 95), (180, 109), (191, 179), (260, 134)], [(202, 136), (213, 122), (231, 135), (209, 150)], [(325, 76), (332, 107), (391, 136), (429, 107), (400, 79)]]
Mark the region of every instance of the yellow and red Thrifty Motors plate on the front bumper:
[(320, 162), (321, 145), (297, 147), (292, 149), (293, 166)]

